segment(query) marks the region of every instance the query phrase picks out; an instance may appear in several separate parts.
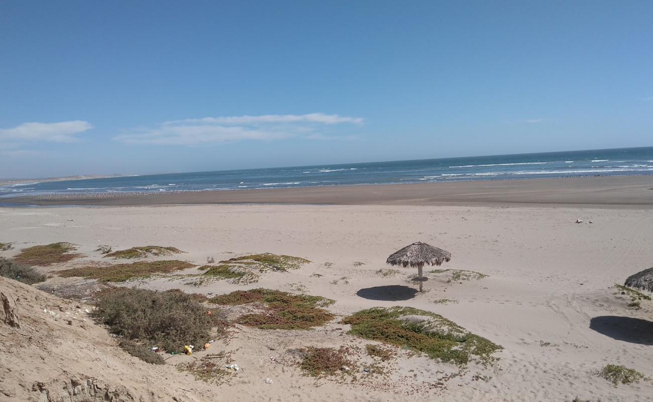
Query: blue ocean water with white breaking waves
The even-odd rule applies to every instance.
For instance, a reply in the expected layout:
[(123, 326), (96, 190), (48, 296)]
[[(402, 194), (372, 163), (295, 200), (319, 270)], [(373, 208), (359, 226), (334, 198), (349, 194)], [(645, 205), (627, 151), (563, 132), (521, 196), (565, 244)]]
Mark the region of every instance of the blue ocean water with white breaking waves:
[(0, 197), (652, 175), (653, 147), (170, 173), (0, 186)]

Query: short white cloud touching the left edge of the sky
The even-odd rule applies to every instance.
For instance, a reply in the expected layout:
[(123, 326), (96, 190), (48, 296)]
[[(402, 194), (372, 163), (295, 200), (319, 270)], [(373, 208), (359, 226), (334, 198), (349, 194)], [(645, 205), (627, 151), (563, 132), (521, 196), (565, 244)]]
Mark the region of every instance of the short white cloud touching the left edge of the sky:
[(0, 129), (0, 139), (3, 141), (49, 141), (74, 142), (74, 135), (93, 128), (89, 122), (72, 120), (58, 123), (23, 123), (8, 129)]

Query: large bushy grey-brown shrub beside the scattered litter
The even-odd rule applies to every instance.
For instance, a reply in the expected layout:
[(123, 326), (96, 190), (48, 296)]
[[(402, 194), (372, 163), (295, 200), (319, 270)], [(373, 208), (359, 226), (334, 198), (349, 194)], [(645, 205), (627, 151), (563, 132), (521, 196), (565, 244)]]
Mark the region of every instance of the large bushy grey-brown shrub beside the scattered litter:
[(171, 352), (206, 343), (216, 325), (219, 335), (226, 335), (226, 325), (206, 310), (183, 292), (114, 288), (97, 295), (93, 315), (116, 335)]

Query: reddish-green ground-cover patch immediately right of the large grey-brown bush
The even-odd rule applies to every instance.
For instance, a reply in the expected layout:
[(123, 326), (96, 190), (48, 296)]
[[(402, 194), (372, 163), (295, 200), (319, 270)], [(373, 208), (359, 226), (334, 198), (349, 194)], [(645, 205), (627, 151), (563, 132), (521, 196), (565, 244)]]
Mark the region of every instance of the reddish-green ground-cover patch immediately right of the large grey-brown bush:
[(238, 323), (259, 329), (311, 329), (326, 324), (334, 315), (321, 309), (333, 300), (320, 296), (295, 295), (279, 290), (237, 290), (209, 299), (219, 305), (244, 305), (263, 303), (266, 310), (259, 314), (245, 314)]

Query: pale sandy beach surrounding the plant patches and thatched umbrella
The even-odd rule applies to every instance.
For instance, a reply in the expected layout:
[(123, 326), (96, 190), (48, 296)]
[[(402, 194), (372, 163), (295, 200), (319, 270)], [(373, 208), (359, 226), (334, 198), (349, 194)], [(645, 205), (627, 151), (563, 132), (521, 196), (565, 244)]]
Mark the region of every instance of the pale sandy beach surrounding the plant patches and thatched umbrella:
[[(77, 244), (86, 257), (43, 269), (52, 274), (102, 261), (95, 251), (98, 244), (110, 244), (114, 250), (145, 244), (175, 246), (187, 253), (176, 258), (197, 265), (207, 258), (219, 261), (261, 252), (310, 260), (291, 272), (263, 273), (254, 284), (216, 280), (195, 286), (179, 276), (124, 283), (206, 295), (269, 288), (336, 301), (328, 309), (338, 318), (311, 331), (236, 325), (229, 343), (216, 346), (229, 351), (244, 369), (231, 384), (195, 382), (171, 365), (152, 371), (153, 379), (147, 380), (152, 389), (160, 388), (166, 395), (181, 392), (184, 400), (208, 401), (229, 394), (238, 401), (395, 401), (407, 396), (442, 401), (571, 401), (574, 397), (647, 401), (653, 395), (651, 382), (613, 386), (596, 372), (613, 363), (653, 375), (653, 305), (648, 301), (639, 310), (629, 309), (628, 297), (613, 287), (653, 261), (653, 191), (648, 190), (652, 180), (642, 176), (475, 182), (423, 185), (419, 191), (409, 185), (320, 188), (301, 190), (304, 197), (297, 201), (315, 203), (315, 197), (322, 195), (330, 203), (351, 204), (360, 203), (367, 194), (362, 203), (368, 205), (161, 205), (179, 203), (180, 197), (187, 204), (274, 203), (300, 191), (268, 190), (138, 198), (138, 203), (159, 206), (1, 208), (0, 241), (12, 242), (14, 250), (0, 256), (10, 257), (35, 244)], [(556, 192), (550, 193), (552, 187)], [(460, 191), (472, 188), (471, 193)], [(347, 199), (340, 198), (344, 193)], [(399, 193), (405, 195), (403, 199)], [(88, 204), (134, 200), (91, 199)], [(456, 202), (464, 205), (447, 205)], [(487, 205), (477, 205), (484, 202)], [(43, 203), (56, 205), (56, 201)], [(371, 205), (375, 203), (397, 205)], [(443, 205), (434, 205), (439, 203)], [(533, 206), (521, 207), (523, 203)], [(569, 206), (573, 203), (578, 205)], [(575, 224), (577, 219), (584, 222)], [(385, 264), (390, 253), (415, 241), (449, 250), (453, 258), (443, 269), (487, 276), (452, 280), (454, 271), (430, 273), (426, 292), (417, 293), (410, 280), (415, 269), (383, 271), (390, 268)], [(388, 286), (400, 286), (400, 292), (390, 292)], [(363, 375), (356, 382), (305, 377), (293, 364), (289, 352), (293, 348), (364, 348), (369, 341), (347, 333), (349, 326), (340, 324), (340, 319), (358, 310), (395, 305), (436, 312), (503, 346), (496, 353), (499, 360), (490, 367), (470, 365), (459, 372), (449, 363), (423, 355), (410, 357), (400, 350), (386, 377)], [(129, 362), (125, 370), (134, 371), (133, 379), (125, 378), (124, 384), (138, 388), (144, 381), (139, 371), (144, 363), (124, 356)], [(5, 354), (3, 361), (20, 364), (20, 356)], [(55, 369), (40, 373), (39, 380), (56, 380), (62, 369), (76, 370), (61, 361)], [(25, 384), (35, 379), (27, 371), (23, 375)], [(274, 384), (266, 384), (265, 378), (272, 378)], [(16, 395), (10, 400), (22, 400), (24, 394)]]

